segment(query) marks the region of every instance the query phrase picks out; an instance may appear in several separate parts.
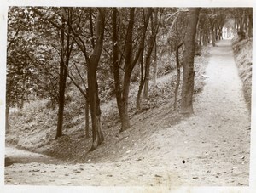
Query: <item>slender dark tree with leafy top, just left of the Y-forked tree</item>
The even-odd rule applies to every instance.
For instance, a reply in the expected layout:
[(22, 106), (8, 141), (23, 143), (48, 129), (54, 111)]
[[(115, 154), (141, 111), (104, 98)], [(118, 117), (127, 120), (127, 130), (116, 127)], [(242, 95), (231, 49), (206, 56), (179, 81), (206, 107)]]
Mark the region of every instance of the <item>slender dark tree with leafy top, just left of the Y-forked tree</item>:
[[(59, 90), (58, 90), (58, 121), (55, 139), (62, 136), (63, 130), (63, 116), (64, 116), (64, 106), (65, 106), (65, 91), (67, 84), (67, 67), (69, 65), (69, 60), (73, 51), (73, 40), (70, 37), (71, 29), (67, 26), (67, 22), (72, 22), (73, 15), (69, 9), (36, 9), (32, 10), (38, 14), (38, 16), (46, 21), (55, 30), (56, 37), (59, 39), (59, 43), (56, 46), (56, 51), (59, 52)], [(59, 13), (58, 13), (59, 12)], [(55, 14), (59, 14), (60, 17), (55, 17)], [(45, 16), (46, 15), (46, 16)], [(67, 17), (66, 17), (67, 16)], [(66, 17), (66, 18), (64, 18)], [(49, 34), (44, 33), (45, 38)]]

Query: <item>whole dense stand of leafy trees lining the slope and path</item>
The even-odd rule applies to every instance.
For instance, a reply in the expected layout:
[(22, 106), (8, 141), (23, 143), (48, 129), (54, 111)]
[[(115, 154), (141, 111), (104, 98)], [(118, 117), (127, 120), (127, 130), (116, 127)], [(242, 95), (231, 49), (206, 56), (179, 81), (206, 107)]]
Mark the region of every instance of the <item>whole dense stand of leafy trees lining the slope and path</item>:
[(248, 8), (10, 7), (6, 125), (10, 107), (22, 109), (25, 102), (49, 99), (49, 108), (58, 105), (55, 139), (61, 137), (67, 88), (77, 88), (85, 101), (86, 136), (91, 123), (95, 150), (104, 140), (101, 101), (115, 96), (120, 132), (130, 128), (131, 82), (139, 85), (141, 112), (141, 98), (156, 88), (163, 54), (176, 55), (175, 109), (183, 68), (180, 112), (190, 114), (194, 56), (201, 54), (202, 45), (215, 46), (227, 24), (241, 38), (252, 37), (252, 15)]

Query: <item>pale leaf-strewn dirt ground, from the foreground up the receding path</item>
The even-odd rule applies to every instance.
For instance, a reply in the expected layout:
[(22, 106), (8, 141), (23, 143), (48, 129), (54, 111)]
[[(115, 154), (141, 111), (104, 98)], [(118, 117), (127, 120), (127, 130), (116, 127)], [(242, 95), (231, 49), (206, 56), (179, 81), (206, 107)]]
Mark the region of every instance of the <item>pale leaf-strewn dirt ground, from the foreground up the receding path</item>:
[(250, 113), (231, 41), (217, 43), (208, 57), (194, 115), (181, 116), (170, 105), (143, 111), (131, 129), (107, 136), (86, 163), (49, 162), (49, 156), (9, 147), (6, 155), (23, 162), (5, 167), (5, 184), (247, 186)]

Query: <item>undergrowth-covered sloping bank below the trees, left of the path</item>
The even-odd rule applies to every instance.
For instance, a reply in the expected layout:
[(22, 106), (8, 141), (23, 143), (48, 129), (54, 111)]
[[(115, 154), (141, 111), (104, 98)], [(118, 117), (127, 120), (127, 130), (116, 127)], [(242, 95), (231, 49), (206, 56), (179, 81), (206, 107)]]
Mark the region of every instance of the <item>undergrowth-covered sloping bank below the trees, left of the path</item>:
[[(204, 73), (207, 66), (207, 48), (200, 57), (195, 57), (195, 91), (203, 88)], [(93, 162), (102, 159), (114, 160), (123, 155), (130, 145), (143, 139), (144, 135), (150, 135), (159, 128), (176, 124), (182, 116), (172, 112), (174, 102), (174, 87), (176, 71), (158, 78), (155, 92), (150, 91), (149, 97), (143, 100), (143, 112), (136, 113), (137, 85), (132, 85), (130, 92), (130, 116), (131, 129), (119, 133), (119, 115), (115, 99), (102, 103), (102, 126), (105, 141), (91, 154), (91, 139), (84, 136), (84, 105), (79, 95), (67, 103), (65, 107), (65, 134), (55, 140), (57, 110), (50, 110), (48, 101), (40, 100), (26, 104), (21, 111), (10, 114), (10, 132), (6, 136), (7, 145), (16, 145), (18, 148), (55, 156), (65, 161), (84, 162), (90, 157)], [(172, 121), (164, 121), (161, 118), (172, 116)], [(161, 121), (160, 121), (161, 120)], [(160, 121), (160, 122), (159, 122)], [(131, 142), (125, 143), (123, 139), (130, 138)], [(93, 156), (92, 156), (93, 155)]]

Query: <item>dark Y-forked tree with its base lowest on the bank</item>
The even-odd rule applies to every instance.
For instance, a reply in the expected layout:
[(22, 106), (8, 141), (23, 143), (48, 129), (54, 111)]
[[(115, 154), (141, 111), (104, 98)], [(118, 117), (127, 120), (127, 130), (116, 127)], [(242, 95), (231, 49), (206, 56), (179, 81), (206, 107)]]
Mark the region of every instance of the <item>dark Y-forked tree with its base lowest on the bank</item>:
[(79, 27), (80, 20), (78, 20), (76, 25), (73, 25), (70, 21), (67, 20), (67, 14), (65, 15), (65, 18), (68, 26), (71, 28), (73, 40), (77, 43), (78, 47), (84, 54), (84, 60), (87, 65), (88, 98), (90, 101), (90, 116), (92, 127), (92, 145), (90, 150), (95, 150), (96, 147), (101, 145), (104, 140), (102, 133), (101, 108), (96, 72), (102, 54), (105, 28), (105, 9), (97, 9), (95, 31), (96, 41), (94, 47), (91, 48), (90, 56), (86, 48), (86, 40), (83, 40), (83, 37), (81, 36), (81, 29)]

